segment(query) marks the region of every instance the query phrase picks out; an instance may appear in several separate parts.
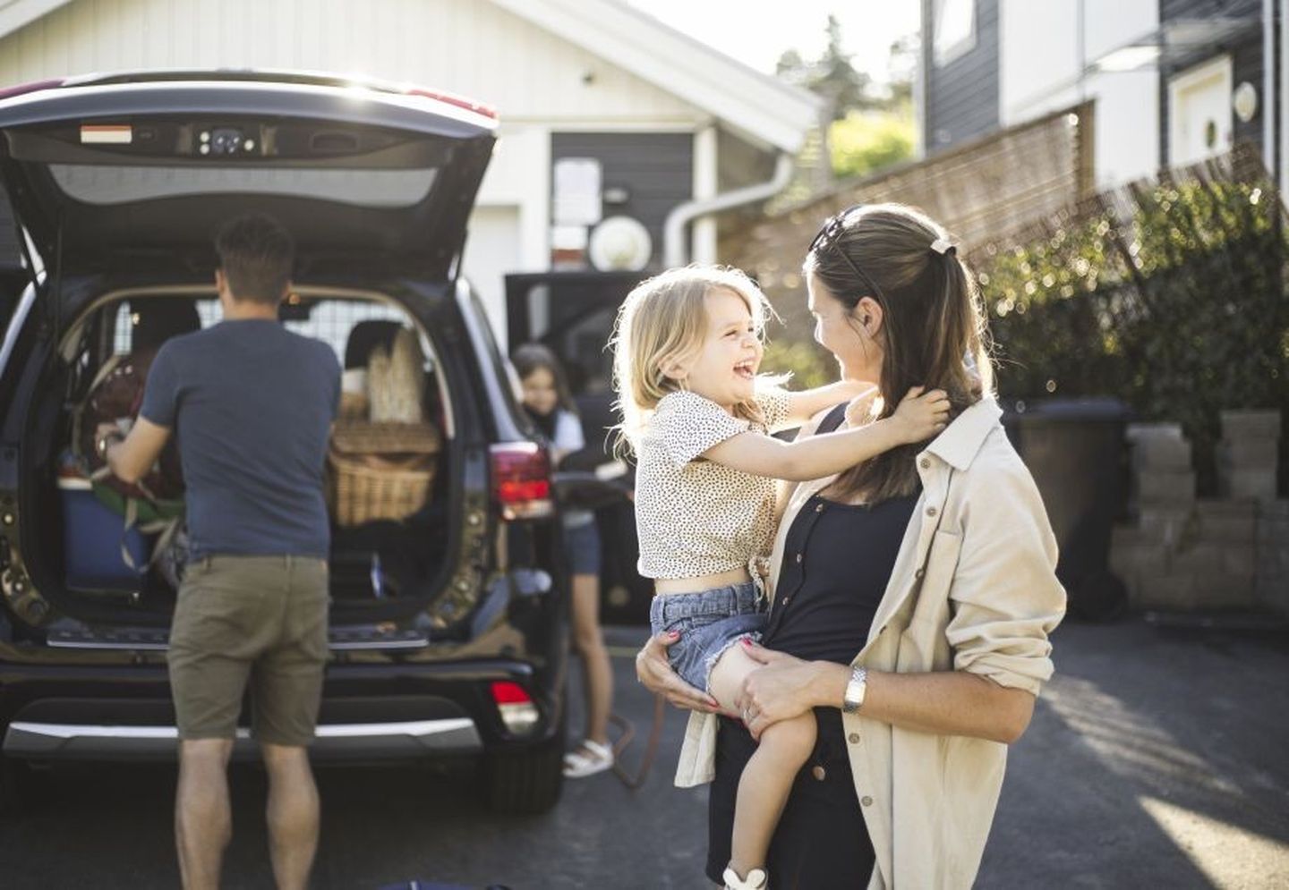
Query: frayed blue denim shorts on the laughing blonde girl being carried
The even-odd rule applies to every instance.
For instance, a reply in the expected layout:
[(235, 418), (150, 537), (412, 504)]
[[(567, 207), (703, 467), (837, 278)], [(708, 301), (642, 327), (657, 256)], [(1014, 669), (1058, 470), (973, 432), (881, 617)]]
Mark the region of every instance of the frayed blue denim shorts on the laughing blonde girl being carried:
[(742, 638), (759, 641), (766, 614), (755, 585), (745, 581), (693, 594), (655, 595), (648, 623), (654, 634), (681, 631), (666, 650), (672, 668), (691, 686), (710, 692), (713, 665)]

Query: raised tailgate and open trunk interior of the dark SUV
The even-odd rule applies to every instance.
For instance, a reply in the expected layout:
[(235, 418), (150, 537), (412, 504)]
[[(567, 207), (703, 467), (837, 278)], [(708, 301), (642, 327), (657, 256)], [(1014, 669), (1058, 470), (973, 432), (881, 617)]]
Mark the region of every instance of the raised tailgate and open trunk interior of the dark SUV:
[[(492, 112), (468, 100), (313, 73), (137, 72), (3, 94), (0, 179), (26, 233), (22, 268), (37, 294), (28, 323), (61, 344), (57, 357), (39, 362), (21, 450), (23, 556), (58, 613), (164, 626), (173, 608), (173, 581), (155, 567), (133, 577), (128, 568), (150, 560), (159, 542), (168, 547), (168, 538), (156, 529), (122, 535), (102, 492), (77, 479), (73, 466), (79, 406), (106, 363), (130, 352), (121, 341), (137, 313), (122, 314), (121, 300), (209, 303), (214, 232), (249, 210), (291, 232), (296, 282), (357, 294), (371, 281), (401, 279), (446, 292), (495, 139)], [(113, 298), (93, 285), (108, 281), (147, 292)], [(168, 296), (162, 282), (183, 285)], [(344, 357), (349, 331), (336, 325), (410, 322), (398, 304), (387, 304), (393, 316), (308, 330), (321, 308), (347, 301), (336, 292), (343, 290), (315, 299), (300, 289), (303, 301), (284, 308), (286, 323), (331, 341)], [(429, 343), (423, 330), (419, 340)], [(433, 358), (427, 353), (432, 376), (440, 370)], [(406, 617), (446, 585), (459, 475), (446, 392), (437, 377), (425, 386), (425, 421), (440, 424), (443, 447), (423, 502), (358, 520), (333, 509), (338, 621)], [(356, 477), (361, 468), (351, 460), (349, 469)]]

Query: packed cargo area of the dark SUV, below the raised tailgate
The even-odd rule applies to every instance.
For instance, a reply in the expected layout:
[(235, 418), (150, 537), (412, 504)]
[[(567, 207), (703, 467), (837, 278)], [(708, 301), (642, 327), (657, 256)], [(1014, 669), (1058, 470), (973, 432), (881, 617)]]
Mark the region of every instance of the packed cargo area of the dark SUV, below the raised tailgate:
[[(367, 455), (333, 448), (329, 459), (333, 625), (396, 621), (424, 611), (451, 573), (451, 518), (460, 511), (451, 484), (452, 406), (443, 368), (403, 308), (370, 298), (347, 299), (335, 290), (311, 296), (300, 289), (281, 313), (287, 328), (329, 343), (347, 368), (336, 440), (370, 416), (363, 370), (374, 353), (389, 354), (401, 336), (405, 346), (415, 343), (423, 371), (419, 422), (406, 424), (412, 440), (397, 444), (415, 452), (412, 462), (406, 453), (376, 453), (370, 461), (414, 468), (400, 477), (392, 496), (374, 496), (361, 478), (356, 484)], [(155, 354), (159, 340), (209, 327), (219, 307), (208, 286), (126, 291), (90, 305), (46, 363), (28, 415), (24, 451), (37, 457), (23, 510), (37, 533), (28, 536), (35, 549), (28, 549), (27, 564), (43, 594), (68, 617), (95, 626), (164, 627), (186, 556), (182, 495), (160, 498), (162, 506), (178, 501), (175, 516), (153, 515), (156, 502), (133, 498), (139, 522), (129, 528), (126, 498), (107, 480), (88, 478), (95, 461), (85, 453), (81, 428), (110, 404), (94, 397), (112, 385), (113, 371), (129, 377), (131, 362)]]

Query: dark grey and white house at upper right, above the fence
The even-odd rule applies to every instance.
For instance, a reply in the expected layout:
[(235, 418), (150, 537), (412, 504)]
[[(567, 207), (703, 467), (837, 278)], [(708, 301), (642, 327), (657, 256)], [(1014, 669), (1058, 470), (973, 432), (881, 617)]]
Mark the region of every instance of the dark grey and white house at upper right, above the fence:
[(1283, 180), (1289, 0), (922, 0), (919, 115), (936, 153), (1092, 100), (1112, 185), (1255, 144)]

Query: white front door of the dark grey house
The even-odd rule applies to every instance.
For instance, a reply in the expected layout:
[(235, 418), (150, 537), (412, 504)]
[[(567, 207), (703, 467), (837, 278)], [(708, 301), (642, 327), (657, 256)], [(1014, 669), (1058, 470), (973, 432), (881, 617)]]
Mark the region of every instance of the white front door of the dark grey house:
[(1230, 55), (1169, 79), (1169, 165), (1194, 164), (1230, 151), (1235, 140), (1231, 80)]

